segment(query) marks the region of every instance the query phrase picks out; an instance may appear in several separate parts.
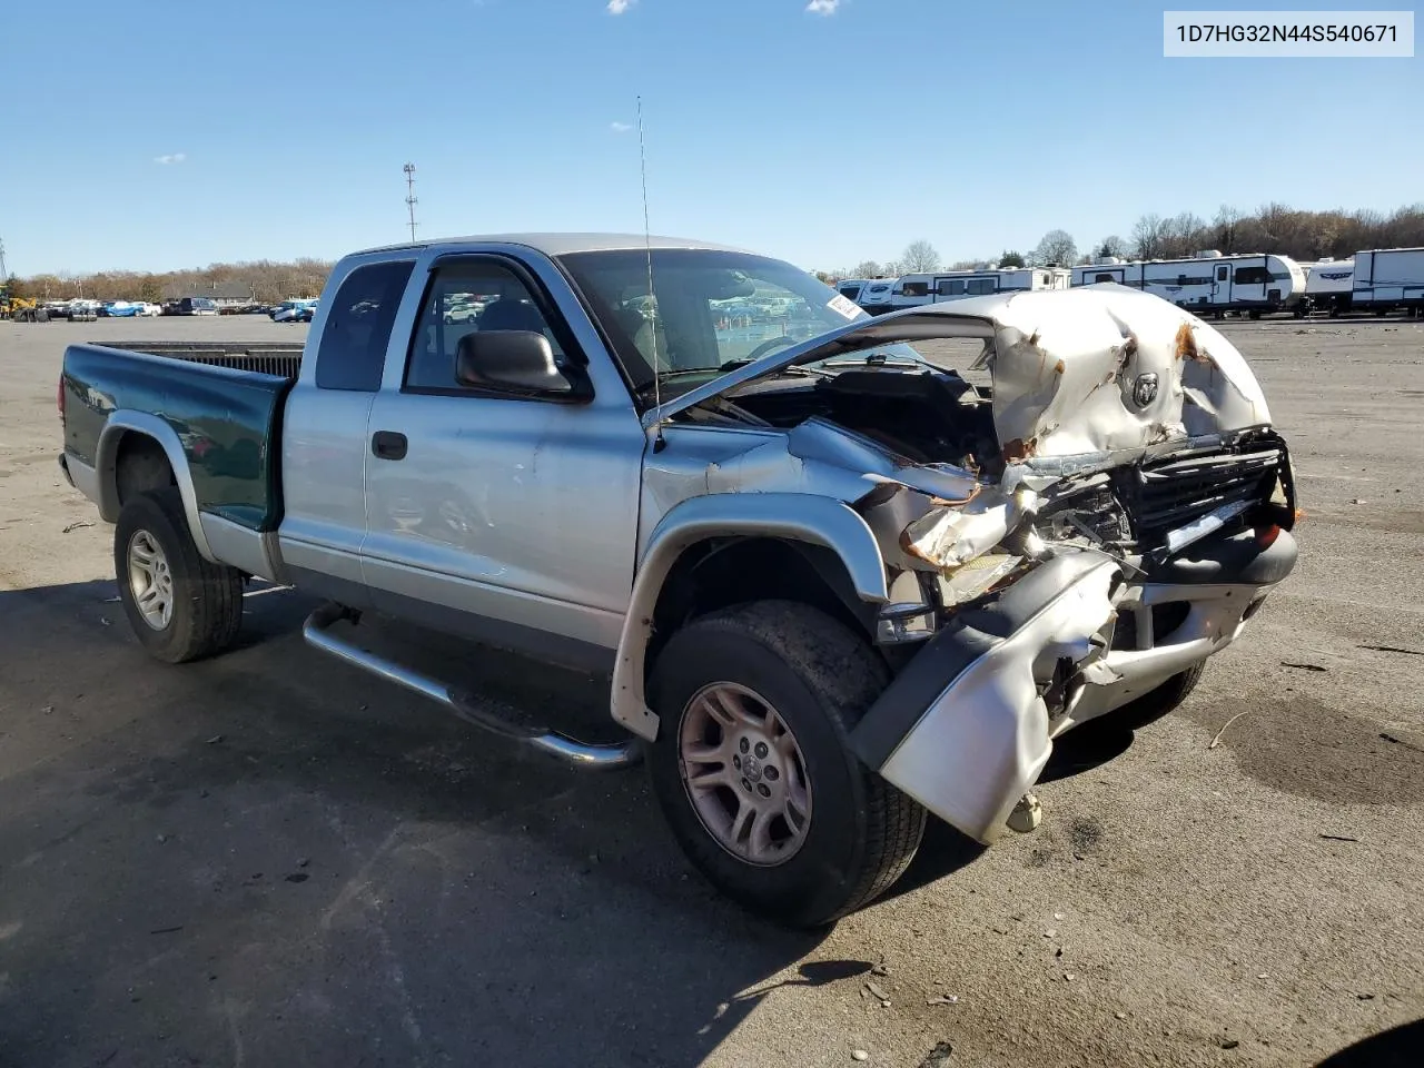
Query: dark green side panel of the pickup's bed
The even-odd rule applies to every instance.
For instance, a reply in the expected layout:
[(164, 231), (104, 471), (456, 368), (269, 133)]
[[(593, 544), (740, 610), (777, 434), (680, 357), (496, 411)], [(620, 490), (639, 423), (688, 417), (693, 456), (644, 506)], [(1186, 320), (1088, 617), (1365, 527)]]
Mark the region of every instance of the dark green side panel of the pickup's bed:
[(282, 404), (296, 380), (300, 345), (272, 342), (131, 342), (71, 345), (64, 353), (64, 451), (71, 464), (112, 468), (125, 426), (152, 429), (171, 459), (181, 450), (199, 514), (273, 531)]

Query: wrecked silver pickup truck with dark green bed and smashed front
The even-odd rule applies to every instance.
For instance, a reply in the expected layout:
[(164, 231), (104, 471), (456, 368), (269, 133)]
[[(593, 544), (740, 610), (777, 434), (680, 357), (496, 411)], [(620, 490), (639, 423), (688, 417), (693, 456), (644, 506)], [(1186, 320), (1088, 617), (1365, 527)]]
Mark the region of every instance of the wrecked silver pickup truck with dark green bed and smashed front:
[[(1245, 359), (1121, 286), (871, 319), (738, 249), (511, 235), (347, 256), (305, 350), (135, 347), (66, 352), (61, 464), (150, 652), (219, 652), (252, 577), (316, 592), (318, 649), (645, 755), (691, 860), (795, 924), (928, 813), (1032, 826), (1054, 739), (1175, 706), (1296, 561)], [(365, 614), (602, 672), (627, 740), (493, 715)]]

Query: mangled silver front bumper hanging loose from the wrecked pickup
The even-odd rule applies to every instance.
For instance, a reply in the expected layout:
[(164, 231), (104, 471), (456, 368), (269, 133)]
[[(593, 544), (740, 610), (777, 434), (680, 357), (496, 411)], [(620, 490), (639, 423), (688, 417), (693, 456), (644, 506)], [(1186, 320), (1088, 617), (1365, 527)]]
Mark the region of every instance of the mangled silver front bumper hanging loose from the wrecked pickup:
[[(1294, 565), (1286, 531), (1255, 554), (1240, 541), (1131, 584), (1098, 554), (1047, 561), (930, 639), (852, 732), (853, 750), (940, 819), (995, 840), (1054, 738), (1223, 649)], [(1180, 581), (1183, 565), (1215, 557), (1229, 568)]]

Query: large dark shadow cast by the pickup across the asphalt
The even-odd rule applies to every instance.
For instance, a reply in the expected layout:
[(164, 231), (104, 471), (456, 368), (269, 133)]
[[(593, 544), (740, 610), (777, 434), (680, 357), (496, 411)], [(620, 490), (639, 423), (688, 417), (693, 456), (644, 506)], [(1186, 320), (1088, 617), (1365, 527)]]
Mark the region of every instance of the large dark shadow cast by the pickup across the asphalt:
[[(112, 595), (0, 594), (0, 1064), (691, 1065), (769, 990), (869, 968), (787, 971), (820, 936), (691, 874), (641, 773), (315, 656), (305, 598), (165, 668)], [(496, 656), (456, 666), (595, 692)]]

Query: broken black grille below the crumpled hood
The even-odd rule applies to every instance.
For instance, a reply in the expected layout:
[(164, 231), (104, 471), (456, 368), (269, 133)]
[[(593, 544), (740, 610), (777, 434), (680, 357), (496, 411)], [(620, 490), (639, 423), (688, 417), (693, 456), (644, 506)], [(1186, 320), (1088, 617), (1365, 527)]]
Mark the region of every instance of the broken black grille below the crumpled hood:
[(1265, 501), (1274, 488), (1280, 450), (1209, 453), (1114, 473), (1139, 548), (1223, 504)]

